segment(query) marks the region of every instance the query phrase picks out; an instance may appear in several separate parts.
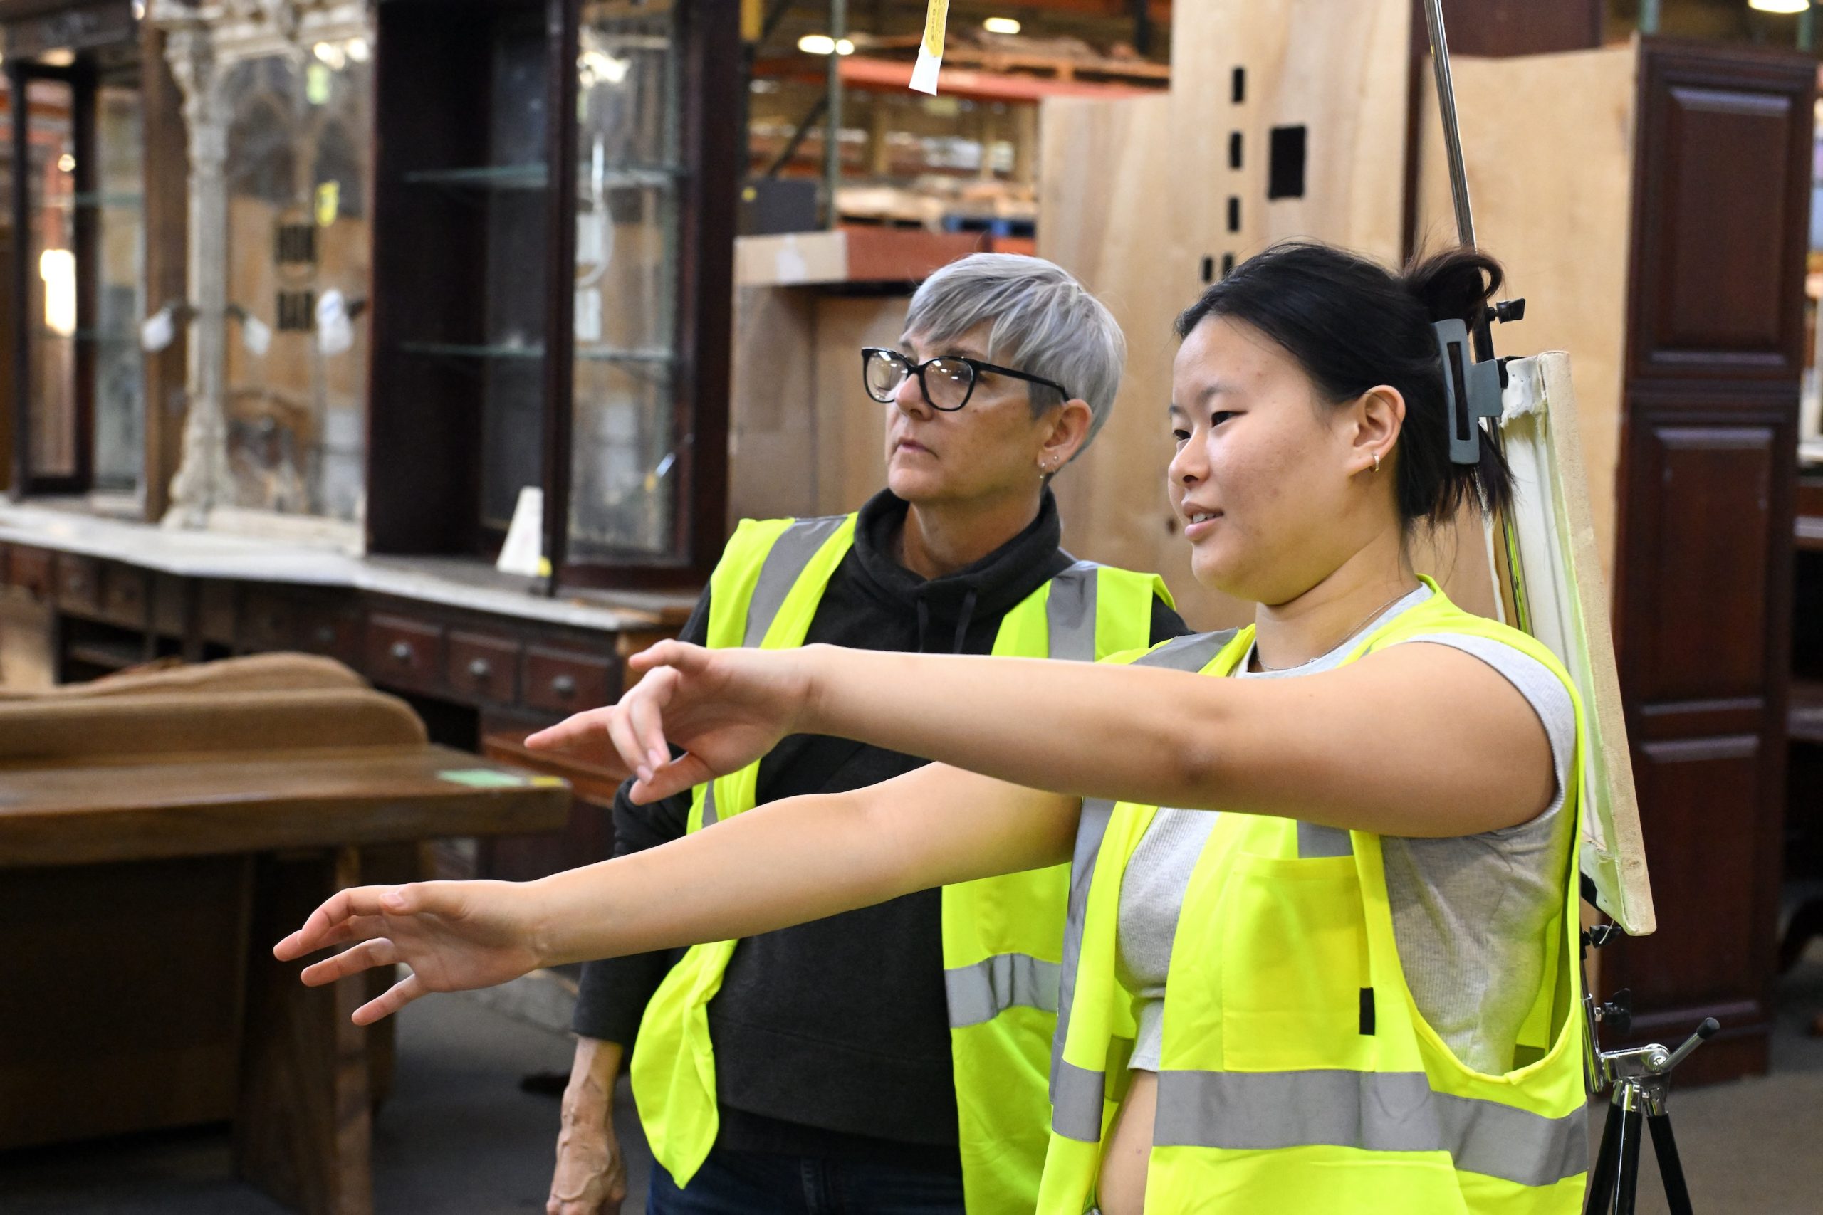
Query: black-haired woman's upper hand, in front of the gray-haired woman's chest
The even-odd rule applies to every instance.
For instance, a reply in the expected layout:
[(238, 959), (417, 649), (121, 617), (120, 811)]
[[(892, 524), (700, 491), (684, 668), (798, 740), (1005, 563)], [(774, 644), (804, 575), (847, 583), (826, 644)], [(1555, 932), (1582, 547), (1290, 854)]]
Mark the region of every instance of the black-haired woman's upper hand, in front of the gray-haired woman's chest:
[[(808, 699), (806, 650), (706, 650), (660, 641), (627, 665), (644, 672), (620, 703), (580, 712), (525, 740), (638, 776), (656, 801), (735, 772), (793, 732)], [(684, 749), (676, 760), (671, 745)]]

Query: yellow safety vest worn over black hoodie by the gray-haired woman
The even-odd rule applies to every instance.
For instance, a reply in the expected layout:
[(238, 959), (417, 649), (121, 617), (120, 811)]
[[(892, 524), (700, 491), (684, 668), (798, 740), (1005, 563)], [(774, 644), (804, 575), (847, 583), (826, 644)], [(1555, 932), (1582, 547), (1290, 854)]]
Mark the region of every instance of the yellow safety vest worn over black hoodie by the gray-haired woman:
[[(804, 645), (853, 534), (855, 516), (742, 521), (709, 579), (709, 645)], [(1094, 661), (1143, 648), (1154, 597), (1170, 603), (1156, 576), (1077, 561), (1006, 612), (994, 654)], [(698, 785), (689, 831), (753, 809), (758, 767)], [(1026, 1215), (1037, 1202), (1068, 874), (1068, 865), (1056, 865), (942, 889), (963, 1188), (979, 1215)], [(653, 1157), (680, 1186), (715, 1146), (707, 1007), (735, 944), (684, 955), (647, 1004), (633, 1051), (633, 1097)]]

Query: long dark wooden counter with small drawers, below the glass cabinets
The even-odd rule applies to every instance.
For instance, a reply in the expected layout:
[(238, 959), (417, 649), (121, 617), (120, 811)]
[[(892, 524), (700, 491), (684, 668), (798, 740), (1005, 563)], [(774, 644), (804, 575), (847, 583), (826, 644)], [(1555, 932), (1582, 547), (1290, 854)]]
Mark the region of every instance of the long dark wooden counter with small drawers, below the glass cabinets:
[[(140, 525), (102, 526), (129, 543)], [(0, 585), (55, 608), (60, 681), (157, 658), (324, 654), (410, 701), (432, 741), (476, 754), (483, 734), (523, 738), (618, 698), (625, 659), (675, 636), (691, 605), (689, 596), (571, 601), (582, 619), (552, 623), (551, 616), (563, 612), (534, 579), (496, 576), (469, 561), (345, 563), (354, 574), (368, 568), (412, 579), (386, 592), (361, 588), (352, 577), (306, 585), (170, 574), (151, 557), (58, 552), (18, 536), (0, 528)], [(421, 585), (436, 587), (438, 597), (423, 597)], [(490, 836), (472, 851), (445, 849), (441, 856), (445, 876), (534, 878), (605, 860), (611, 851), (605, 811), (578, 800), (556, 831)]]

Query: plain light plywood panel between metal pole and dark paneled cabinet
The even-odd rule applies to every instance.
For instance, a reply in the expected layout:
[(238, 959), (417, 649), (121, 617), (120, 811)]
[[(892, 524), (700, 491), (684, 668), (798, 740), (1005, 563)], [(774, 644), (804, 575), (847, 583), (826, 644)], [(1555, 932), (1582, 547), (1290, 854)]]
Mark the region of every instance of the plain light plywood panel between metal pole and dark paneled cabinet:
[[(1508, 268), (1504, 293), (1526, 299), (1526, 321), (1500, 326), (1495, 341), (1502, 353), (1571, 353), (1590, 510), (1612, 587), (1637, 53), (1464, 56), (1453, 71), (1477, 235)], [(1420, 246), (1446, 248), (1455, 217), (1427, 77), (1420, 131)]]

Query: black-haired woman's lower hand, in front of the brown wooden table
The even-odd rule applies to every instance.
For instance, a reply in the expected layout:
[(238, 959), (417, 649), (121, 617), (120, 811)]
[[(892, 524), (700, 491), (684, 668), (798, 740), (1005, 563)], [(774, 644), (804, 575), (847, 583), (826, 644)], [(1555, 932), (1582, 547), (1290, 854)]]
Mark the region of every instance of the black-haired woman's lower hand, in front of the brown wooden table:
[(492, 987), (540, 965), (538, 907), (530, 885), (516, 882), (414, 882), (341, 891), (310, 913), (304, 927), (272, 953), (281, 962), (326, 945), (359, 942), (304, 967), (304, 984), (321, 987), (376, 965), (403, 962), (408, 978), (354, 1013), (370, 1026), (427, 991)]

